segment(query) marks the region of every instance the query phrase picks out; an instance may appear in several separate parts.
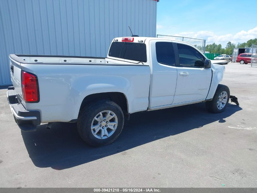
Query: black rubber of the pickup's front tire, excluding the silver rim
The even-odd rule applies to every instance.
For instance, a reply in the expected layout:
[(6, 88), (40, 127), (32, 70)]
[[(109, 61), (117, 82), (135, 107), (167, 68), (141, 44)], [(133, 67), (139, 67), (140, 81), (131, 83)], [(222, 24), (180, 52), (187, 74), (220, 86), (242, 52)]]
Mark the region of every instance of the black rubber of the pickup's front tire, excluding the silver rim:
[[(217, 100), (219, 98), (219, 95), (223, 92), (223, 91), (226, 91), (227, 92), (227, 102), (225, 104), (225, 106), (222, 108), (222, 109), (218, 109), (217, 107)], [(228, 104), (228, 101), (229, 101), (229, 97), (230, 97), (230, 91), (229, 91), (229, 88), (226, 86), (226, 85), (223, 85), (223, 84), (219, 84), (217, 86), (217, 89), (216, 89), (216, 92), (214, 94), (214, 97), (211, 101), (207, 101), (205, 103), (206, 105), (206, 108), (209, 112), (211, 113), (221, 113), (223, 112), (226, 107), (227, 107), (227, 104)]]

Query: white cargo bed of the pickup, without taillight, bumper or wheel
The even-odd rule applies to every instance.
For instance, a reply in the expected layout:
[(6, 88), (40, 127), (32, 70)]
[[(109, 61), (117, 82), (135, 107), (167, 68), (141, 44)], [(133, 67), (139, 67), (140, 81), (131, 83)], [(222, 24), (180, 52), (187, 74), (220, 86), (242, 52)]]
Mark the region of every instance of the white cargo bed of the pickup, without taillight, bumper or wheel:
[[(124, 93), (129, 113), (148, 107), (148, 65), (84, 56), (11, 54), (9, 58), (15, 95), (26, 111), (40, 111), (41, 123), (77, 119), (85, 96), (96, 93)], [(22, 71), (37, 77), (39, 102), (23, 102)]]

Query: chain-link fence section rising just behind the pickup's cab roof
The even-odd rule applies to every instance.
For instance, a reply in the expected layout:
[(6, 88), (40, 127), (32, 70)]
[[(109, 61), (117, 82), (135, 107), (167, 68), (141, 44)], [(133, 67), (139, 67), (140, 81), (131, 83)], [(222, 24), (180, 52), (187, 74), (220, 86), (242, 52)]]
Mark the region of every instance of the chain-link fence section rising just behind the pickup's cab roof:
[(157, 34), (157, 38), (185, 41), (189, 44), (192, 44), (197, 49), (199, 49), (203, 54), (205, 54), (205, 40), (196, 39), (196, 38), (186, 38), (186, 37), (181, 37), (181, 36), (158, 35), (158, 34)]

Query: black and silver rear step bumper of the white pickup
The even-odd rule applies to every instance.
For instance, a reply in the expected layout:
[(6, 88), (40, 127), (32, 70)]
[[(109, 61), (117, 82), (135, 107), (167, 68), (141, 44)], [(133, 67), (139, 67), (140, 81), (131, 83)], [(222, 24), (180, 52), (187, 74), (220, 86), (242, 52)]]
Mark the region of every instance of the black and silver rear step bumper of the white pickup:
[(9, 102), (14, 119), (21, 130), (34, 131), (36, 126), (40, 125), (40, 112), (27, 111), (19, 102), (14, 87), (8, 87), (7, 100)]

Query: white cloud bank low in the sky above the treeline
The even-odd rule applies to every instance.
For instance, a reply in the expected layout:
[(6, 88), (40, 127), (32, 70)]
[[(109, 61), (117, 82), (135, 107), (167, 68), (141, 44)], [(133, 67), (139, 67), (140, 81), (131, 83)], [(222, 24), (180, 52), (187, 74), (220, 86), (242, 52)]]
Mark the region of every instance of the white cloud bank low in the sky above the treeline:
[(249, 39), (257, 38), (257, 27), (248, 30), (248, 31), (240, 31), (236, 34), (224, 34), (224, 35), (216, 35), (214, 32), (211, 31), (197, 31), (197, 32), (181, 32), (179, 34), (173, 34), (174, 36), (183, 36), (188, 38), (198, 38), (198, 39), (205, 39), (206, 45), (207, 44), (221, 44), (222, 47), (227, 45), (228, 41), (231, 41), (234, 44), (238, 42), (243, 43), (248, 41)]

